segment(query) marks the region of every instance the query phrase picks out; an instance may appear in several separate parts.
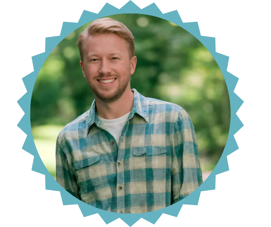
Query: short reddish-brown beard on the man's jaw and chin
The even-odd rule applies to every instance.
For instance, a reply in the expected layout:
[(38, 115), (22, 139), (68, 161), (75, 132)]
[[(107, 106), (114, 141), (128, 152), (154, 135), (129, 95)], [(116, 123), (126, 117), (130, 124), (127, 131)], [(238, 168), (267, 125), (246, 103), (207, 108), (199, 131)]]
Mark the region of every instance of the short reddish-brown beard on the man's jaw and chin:
[[(112, 76), (108, 76), (108, 77), (112, 77)], [(121, 81), (120, 80), (120, 77), (116, 76), (116, 80), (118, 82), (118, 87), (116, 88), (116, 90), (112, 93), (110, 92), (111, 90), (113, 90), (112, 88), (104, 88), (103, 89), (103, 92), (110, 92), (110, 94), (103, 94), (103, 92), (99, 92), (97, 89), (97, 87), (95, 87), (95, 84), (93, 83), (90, 83), (89, 82), (89, 86), (92, 90), (92, 92), (95, 94), (95, 96), (100, 99), (101, 101), (105, 102), (105, 103), (112, 103), (116, 100), (118, 100), (122, 95), (123, 93), (125, 92), (125, 90), (127, 89), (127, 86), (129, 84), (129, 81), (130, 81), (130, 78), (131, 76), (125, 80), (125, 81)], [(99, 82), (98, 82), (99, 83)]]

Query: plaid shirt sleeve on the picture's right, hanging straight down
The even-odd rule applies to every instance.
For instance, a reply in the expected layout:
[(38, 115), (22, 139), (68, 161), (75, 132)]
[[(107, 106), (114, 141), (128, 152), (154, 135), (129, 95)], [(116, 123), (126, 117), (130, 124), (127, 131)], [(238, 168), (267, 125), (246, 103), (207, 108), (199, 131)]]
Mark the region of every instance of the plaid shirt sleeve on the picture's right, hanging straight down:
[(172, 204), (202, 184), (202, 170), (195, 129), (188, 113), (181, 109), (174, 125), (172, 149)]

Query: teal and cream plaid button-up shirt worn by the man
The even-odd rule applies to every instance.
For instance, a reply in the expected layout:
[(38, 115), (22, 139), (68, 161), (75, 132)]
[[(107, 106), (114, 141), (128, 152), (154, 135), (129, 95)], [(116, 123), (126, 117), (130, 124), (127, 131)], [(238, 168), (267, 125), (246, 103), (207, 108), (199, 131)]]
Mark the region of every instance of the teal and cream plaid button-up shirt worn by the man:
[(95, 100), (57, 137), (57, 182), (84, 203), (111, 212), (162, 209), (202, 184), (188, 113), (132, 91), (133, 108), (119, 146), (99, 120)]

